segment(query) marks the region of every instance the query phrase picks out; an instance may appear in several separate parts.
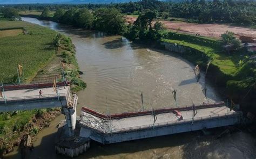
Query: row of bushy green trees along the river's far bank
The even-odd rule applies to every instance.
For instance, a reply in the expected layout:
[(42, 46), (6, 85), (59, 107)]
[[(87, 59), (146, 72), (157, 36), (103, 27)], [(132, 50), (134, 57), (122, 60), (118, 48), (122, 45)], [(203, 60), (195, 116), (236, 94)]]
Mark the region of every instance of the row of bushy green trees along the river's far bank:
[[(45, 9), (49, 10), (49, 9)], [(43, 11), (42, 15), (44, 14)], [(87, 30), (97, 30), (108, 34), (120, 34), (125, 37), (136, 39), (160, 39), (164, 32), (163, 24), (157, 22), (152, 25), (157, 13), (145, 10), (140, 13), (134, 25), (126, 24), (124, 16), (114, 8), (99, 8), (96, 10), (72, 8), (68, 11), (58, 9), (52, 20), (58, 23), (78, 26)]]

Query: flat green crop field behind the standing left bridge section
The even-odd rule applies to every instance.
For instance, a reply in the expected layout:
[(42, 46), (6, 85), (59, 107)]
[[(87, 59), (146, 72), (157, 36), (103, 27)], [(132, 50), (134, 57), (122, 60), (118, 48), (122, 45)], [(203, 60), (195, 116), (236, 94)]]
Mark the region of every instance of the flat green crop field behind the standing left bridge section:
[(55, 31), (24, 21), (0, 21), (0, 30), (17, 27), (24, 28), (29, 34), (0, 38), (0, 80), (4, 83), (16, 81), (18, 64), (23, 66), (22, 82), (30, 82), (56, 52), (51, 44)]

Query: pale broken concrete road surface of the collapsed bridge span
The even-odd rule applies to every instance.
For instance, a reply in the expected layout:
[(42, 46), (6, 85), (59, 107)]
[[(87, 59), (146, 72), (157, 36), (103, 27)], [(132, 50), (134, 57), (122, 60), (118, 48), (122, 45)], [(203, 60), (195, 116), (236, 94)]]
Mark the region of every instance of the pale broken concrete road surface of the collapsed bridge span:
[[(201, 120), (214, 118), (214, 117), (221, 117), (225, 116), (227, 113), (232, 114), (235, 113), (234, 111), (230, 111), (226, 106), (221, 107), (213, 107), (207, 109), (199, 109), (197, 110), (197, 114), (193, 120)], [(153, 123), (153, 115), (141, 115), (138, 117), (129, 117), (129, 118), (122, 118), (122, 119), (112, 119), (112, 120), (104, 120), (94, 115), (91, 115), (86, 112), (81, 113), (81, 121), (80, 123), (89, 126), (91, 128), (98, 129), (104, 133), (111, 133), (111, 132), (119, 132), (124, 131), (125, 129), (140, 129), (145, 127), (152, 127), (164, 124), (175, 124), (176, 122), (184, 122), (186, 120), (192, 120), (192, 113), (193, 111), (181, 111), (181, 115), (183, 116), (183, 120), (179, 120), (176, 114), (170, 113), (161, 113), (157, 114), (157, 120)]]

